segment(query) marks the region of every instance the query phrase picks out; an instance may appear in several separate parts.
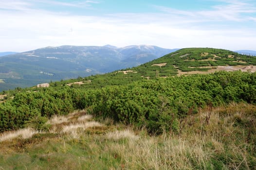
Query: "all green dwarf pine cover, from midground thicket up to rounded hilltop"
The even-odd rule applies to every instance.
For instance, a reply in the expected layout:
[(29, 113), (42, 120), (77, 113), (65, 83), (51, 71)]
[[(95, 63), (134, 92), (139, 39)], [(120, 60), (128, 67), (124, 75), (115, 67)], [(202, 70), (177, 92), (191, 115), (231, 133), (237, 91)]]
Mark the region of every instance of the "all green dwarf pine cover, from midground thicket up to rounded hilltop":
[[(241, 71), (172, 75), (178, 69), (207, 70), (210, 68), (203, 67), (238, 64), (256, 65), (256, 58), (220, 49), (182, 49), (130, 70), (51, 82), (46, 89), (4, 91), (8, 100), (0, 104), (0, 132), (24, 127), (37, 117), (66, 115), (84, 108), (96, 116), (144, 125), (152, 133), (161, 131), (162, 126), (175, 130), (178, 119), (207, 105), (255, 103), (256, 78), (255, 73)], [(161, 79), (163, 76), (169, 78)], [(67, 86), (77, 81), (84, 84)]]

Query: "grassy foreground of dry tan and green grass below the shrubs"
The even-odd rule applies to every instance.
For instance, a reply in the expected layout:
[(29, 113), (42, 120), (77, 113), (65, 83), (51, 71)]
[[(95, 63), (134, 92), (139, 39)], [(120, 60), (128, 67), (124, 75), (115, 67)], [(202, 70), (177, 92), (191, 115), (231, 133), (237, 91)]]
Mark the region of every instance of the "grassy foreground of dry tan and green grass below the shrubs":
[(149, 136), (85, 110), (0, 135), (0, 170), (256, 169), (256, 106), (205, 108), (179, 122), (179, 132)]

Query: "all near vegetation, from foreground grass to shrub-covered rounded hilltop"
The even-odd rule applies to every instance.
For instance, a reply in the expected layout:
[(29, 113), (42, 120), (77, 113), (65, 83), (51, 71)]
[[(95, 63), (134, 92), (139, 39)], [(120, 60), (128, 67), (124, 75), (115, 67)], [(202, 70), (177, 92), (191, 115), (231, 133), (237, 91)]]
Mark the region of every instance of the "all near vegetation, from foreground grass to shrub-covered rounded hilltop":
[[(237, 64), (256, 58), (183, 49), (135, 68), (3, 91), (0, 169), (255, 169), (256, 72), (176, 76)], [(33, 133), (6, 141), (20, 128)]]

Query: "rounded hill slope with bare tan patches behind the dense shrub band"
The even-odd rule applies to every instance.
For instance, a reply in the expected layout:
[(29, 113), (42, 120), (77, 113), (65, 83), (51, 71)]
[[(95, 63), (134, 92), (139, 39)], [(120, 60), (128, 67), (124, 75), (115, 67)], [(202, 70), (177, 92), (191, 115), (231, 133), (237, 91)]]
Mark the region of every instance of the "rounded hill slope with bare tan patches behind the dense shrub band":
[(85, 83), (82, 86), (97, 88), (105, 85), (124, 85), (143, 79), (206, 74), (221, 70), (256, 72), (256, 57), (222, 49), (187, 48), (166, 54), (137, 67), (89, 76), (84, 79), (56, 82), (52, 85), (90, 80), (91, 83)]

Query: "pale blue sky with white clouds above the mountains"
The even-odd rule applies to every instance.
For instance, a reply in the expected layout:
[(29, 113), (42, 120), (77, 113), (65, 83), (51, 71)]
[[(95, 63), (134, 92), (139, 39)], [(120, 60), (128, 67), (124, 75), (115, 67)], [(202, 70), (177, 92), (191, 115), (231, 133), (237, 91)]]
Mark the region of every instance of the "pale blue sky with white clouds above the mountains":
[(256, 51), (256, 0), (0, 0), (0, 51), (106, 44)]

